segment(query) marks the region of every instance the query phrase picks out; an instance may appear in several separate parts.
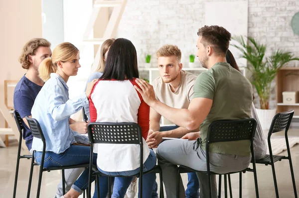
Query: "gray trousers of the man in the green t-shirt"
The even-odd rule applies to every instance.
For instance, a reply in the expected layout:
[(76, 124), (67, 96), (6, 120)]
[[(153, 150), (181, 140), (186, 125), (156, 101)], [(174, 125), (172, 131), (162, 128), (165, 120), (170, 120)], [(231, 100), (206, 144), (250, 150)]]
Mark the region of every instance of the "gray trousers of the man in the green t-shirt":
[[(163, 182), (167, 198), (176, 198), (177, 165), (206, 171), (206, 153), (199, 146), (200, 138), (194, 141), (167, 140), (159, 144), (156, 155), (162, 168)], [(224, 174), (246, 169), (251, 161), (249, 156), (209, 153), (210, 171)], [(196, 173), (199, 179), (200, 198), (209, 197), (208, 177), (205, 173)], [(217, 198), (216, 176), (211, 176), (212, 198)], [(179, 198), (185, 198), (185, 190), (180, 178)]]

